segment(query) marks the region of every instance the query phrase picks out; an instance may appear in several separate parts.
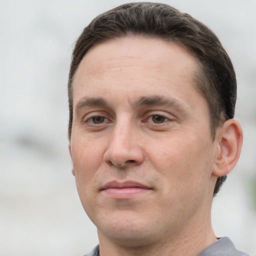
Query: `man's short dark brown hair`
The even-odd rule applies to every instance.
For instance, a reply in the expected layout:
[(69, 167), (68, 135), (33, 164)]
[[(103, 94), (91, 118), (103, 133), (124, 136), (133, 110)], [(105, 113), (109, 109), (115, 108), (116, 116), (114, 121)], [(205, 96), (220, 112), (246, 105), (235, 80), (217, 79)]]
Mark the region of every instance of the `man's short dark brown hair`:
[[(196, 88), (209, 107), (211, 135), (224, 120), (233, 118), (236, 101), (235, 72), (217, 36), (186, 13), (161, 3), (136, 2), (120, 5), (94, 18), (76, 41), (68, 77), (70, 139), (73, 119), (72, 80), (88, 49), (97, 43), (128, 35), (175, 41), (197, 60)], [(215, 195), (226, 176), (218, 177)]]

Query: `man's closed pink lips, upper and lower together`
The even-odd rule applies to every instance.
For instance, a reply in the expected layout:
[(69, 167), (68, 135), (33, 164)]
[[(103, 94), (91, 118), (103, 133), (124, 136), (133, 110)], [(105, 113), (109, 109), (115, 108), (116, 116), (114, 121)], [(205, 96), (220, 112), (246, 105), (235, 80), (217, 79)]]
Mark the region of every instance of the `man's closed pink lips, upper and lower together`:
[(149, 186), (132, 180), (124, 182), (113, 180), (104, 184), (100, 189), (106, 195), (116, 199), (133, 198), (150, 190), (152, 188)]

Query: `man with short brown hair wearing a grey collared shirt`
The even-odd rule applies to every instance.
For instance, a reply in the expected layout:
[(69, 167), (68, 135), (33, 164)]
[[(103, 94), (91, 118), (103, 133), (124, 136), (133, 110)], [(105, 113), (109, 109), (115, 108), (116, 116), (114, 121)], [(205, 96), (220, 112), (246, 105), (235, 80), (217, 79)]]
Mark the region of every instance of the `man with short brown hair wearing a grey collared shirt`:
[(72, 173), (99, 238), (87, 255), (246, 255), (210, 221), (242, 143), (212, 31), (166, 4), (109, 10), (75, 44), (68, 96)]

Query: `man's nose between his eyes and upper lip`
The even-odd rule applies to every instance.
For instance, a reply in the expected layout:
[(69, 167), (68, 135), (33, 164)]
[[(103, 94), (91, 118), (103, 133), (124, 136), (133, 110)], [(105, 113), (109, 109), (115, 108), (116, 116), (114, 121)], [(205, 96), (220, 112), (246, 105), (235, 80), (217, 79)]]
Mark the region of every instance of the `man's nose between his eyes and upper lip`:
[(141, 139), (131, 125), (116, 124), (111, 134), (103, 160), (110, 166), (139, 165), (144, 160)]

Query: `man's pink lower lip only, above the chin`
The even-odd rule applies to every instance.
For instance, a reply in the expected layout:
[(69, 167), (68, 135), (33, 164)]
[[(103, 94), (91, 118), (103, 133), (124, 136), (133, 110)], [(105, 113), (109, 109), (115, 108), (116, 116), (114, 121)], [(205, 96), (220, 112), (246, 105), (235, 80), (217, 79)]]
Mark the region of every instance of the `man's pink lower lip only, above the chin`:
[(132, 198), (138, 194), (147, 192), (149, 190), (151, 189), (141, 188), (141, 187), (124, 187), (124, 188), (109, 187), (102, 191), (104, 191), (110, 197), (124, 199), (124, 198)]

